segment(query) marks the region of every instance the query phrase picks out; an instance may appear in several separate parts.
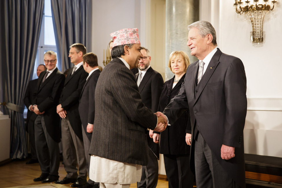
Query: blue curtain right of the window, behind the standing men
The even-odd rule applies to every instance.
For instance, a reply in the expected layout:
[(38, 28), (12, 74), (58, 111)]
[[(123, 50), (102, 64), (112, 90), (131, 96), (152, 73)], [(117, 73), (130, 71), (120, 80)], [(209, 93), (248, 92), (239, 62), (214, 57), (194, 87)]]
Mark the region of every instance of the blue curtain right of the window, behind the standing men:
[(71, 67), (69, 46), (82, 43), (91, 51), (92, 0), (51, 0), (57, 54), (62, 71)]

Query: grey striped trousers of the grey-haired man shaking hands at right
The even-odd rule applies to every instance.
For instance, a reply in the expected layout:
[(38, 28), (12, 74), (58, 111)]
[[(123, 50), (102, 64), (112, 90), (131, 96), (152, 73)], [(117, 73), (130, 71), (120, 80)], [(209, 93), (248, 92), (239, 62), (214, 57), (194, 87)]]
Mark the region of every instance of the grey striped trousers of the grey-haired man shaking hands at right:
[(195, 141), (195, 170), (197, 188), (239, 188), (222, 168), (200, 133)]

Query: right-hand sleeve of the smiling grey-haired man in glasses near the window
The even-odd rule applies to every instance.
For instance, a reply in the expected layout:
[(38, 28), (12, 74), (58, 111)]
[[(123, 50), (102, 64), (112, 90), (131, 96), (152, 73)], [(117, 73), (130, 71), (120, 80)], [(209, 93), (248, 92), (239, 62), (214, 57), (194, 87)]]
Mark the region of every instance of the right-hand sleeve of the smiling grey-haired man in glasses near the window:
[(65, 76), (63, 74), (58, 74), (56, 75), (56, 77), (57, 78), (55, 78), (51, 95), (37, 106), (40, 112), (44, 112), (45, 110), (50, 109), (54, 106), (54, 103), (57, 103), (59, 101), (62, 87), (64, 86)]

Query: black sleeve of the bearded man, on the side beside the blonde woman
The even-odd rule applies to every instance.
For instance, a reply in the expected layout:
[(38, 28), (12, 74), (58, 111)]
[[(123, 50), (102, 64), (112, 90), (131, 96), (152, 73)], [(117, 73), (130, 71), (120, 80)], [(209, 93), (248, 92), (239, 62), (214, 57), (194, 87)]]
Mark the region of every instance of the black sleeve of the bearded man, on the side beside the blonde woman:
[(155, 113), (158, 111), (158, 104), (160, 102), (160, 96), (163, 89), (163, 77), (160, 73), (157, 73), (151, 84), (152, 93), (152, 111)]

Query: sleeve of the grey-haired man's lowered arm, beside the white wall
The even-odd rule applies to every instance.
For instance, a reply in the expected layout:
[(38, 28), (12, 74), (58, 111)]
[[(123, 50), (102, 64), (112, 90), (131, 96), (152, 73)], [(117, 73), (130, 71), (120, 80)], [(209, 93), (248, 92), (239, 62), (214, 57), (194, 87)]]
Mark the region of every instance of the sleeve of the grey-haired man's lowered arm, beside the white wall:
[(247, 113), (246, 74), (239, 58), (234, 59), (224, 78), (226, 119), (223, 144), (240, 147), (238, 138), (242, 136)]

